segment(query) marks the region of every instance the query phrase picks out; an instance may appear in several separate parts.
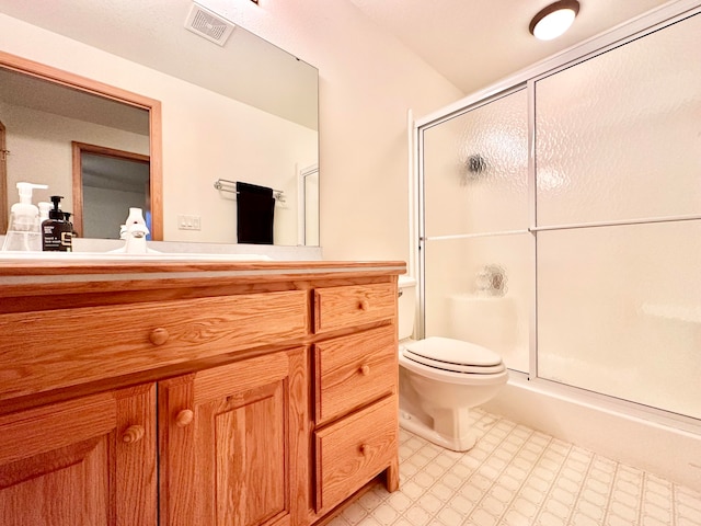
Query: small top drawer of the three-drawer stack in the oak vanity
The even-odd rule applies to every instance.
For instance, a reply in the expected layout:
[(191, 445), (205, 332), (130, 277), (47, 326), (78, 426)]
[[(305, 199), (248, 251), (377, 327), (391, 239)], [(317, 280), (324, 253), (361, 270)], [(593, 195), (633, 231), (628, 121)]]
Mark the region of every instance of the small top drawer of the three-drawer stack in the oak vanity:
[(314, 332), (322, 333), (393, 318), (397, 285), (348, 285), (314, 290)]

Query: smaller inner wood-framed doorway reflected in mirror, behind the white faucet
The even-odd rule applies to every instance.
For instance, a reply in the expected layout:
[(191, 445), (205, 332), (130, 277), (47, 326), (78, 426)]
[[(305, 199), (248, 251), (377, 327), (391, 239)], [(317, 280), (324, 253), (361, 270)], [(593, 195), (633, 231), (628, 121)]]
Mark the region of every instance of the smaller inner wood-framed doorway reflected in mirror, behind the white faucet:
[[(149, 156), (73, 142), (73, 228), (83, 238), (118, 239), (130, 207), (149, 229)], [(149, 236), (150, 239), (150, 236)]]

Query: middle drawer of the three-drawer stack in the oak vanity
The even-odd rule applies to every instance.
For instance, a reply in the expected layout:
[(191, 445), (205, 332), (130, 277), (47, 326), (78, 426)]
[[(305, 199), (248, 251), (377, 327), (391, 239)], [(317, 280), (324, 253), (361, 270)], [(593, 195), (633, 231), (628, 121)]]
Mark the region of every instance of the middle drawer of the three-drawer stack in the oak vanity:
[(397, 392), (394, 332), (391, 324), (315, 345), (317, 423)]

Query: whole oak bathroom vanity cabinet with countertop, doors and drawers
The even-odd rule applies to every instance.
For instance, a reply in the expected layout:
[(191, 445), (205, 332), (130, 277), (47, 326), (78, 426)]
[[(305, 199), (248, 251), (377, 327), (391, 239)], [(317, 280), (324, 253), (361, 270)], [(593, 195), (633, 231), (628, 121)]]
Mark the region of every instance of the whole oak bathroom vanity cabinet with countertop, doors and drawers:
[(310, 525), (399, 485), (401, 262), (0, 262), (0, 524)]

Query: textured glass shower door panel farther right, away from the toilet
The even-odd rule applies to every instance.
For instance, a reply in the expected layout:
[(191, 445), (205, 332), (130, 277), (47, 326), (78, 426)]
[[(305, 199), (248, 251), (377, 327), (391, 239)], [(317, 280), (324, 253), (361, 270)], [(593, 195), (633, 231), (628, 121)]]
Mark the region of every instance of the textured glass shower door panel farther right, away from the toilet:
[(536, 82), (538, 376), (701, 419), (701, 15)]

